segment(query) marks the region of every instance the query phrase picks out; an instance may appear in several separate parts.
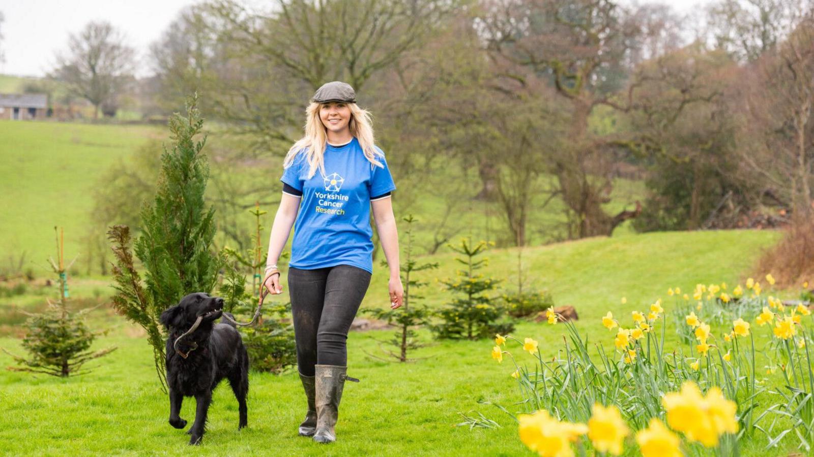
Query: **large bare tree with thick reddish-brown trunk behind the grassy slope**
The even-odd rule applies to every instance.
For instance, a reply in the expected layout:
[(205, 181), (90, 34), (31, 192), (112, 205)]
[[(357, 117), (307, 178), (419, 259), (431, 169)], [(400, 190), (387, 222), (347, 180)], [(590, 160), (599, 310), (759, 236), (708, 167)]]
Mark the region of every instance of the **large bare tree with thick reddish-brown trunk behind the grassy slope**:
[[(589, 129), (595, 107), (630, 109), (616, 92), (639, 28), (633, 15), (611, 0), (497, 0), (484, 5), (481, 33), (505, 81), (527, 87), (535, 76), (551, 81), (570, 105), (568, 142), (549, 156), (549, 171), (569, 208), (579, 237), (610, 235), (637, 211), (606, 213), (615, 142)], [(509, 86), (507, 84), (507, 86)]]

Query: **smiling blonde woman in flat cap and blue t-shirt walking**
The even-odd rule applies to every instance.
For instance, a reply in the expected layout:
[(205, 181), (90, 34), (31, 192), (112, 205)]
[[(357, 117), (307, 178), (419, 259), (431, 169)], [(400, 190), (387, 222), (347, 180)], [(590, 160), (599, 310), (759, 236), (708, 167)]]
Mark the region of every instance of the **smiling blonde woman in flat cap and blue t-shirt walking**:
[[(346, 376), (346, 341), (373, 272), (370, 207), (390, 266), (390, 302), (401, 306), (399, 243), (384, 153), (353, 88), (322, 85), (305, 110), (305, 136), (288, 150), (282, 200), (269, 238), (264, 286), (282, 293), (277, 260), (294, 224), (288, 285), (309, 411), (300, 435), (334, 442)], [(317, 173), (318, 172), (318, 173)]]

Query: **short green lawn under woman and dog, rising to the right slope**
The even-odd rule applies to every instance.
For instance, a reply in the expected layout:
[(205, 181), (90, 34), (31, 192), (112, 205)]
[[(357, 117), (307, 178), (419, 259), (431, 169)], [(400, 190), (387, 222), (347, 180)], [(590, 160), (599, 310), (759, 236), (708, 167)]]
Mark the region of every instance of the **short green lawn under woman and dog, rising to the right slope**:
[[(536, 286), (547, 287), (557, 304), (576, 307), (583, 333), (610, 344), (612, 335), (599, 324), (606, 311), (627, 321), (630, 311), (663, 297), (669, 316), (672, 302), (666, 297), (667, 287), (678, 285), (689, 291), (697, 282), (734, 285), (751, 270), (761, 250), (778, 237), (779, 233), (771, 231), (649, 233), (529, 248), (523, 251), (523, 259)], [(493, 250), (488, 255), (488, 272), (510, 279), (516, 250)], [(451, 275), (455, 268), (453, 255), (431, 260), (441, 263), (437, 276)], [(75, 281), (73, 290), (78, 295), (98, 287), (84, 286), (83, 281)], [(425, 294), (433, 307), (448, 298), (436, 283)], [(623, 296), (628, 298), (626, 305), (619, 302)], [(377, 267), (363, 306), (383, 307), (386, 300), (387, 272)], [(296, 436), (304, 395), (295, 372), (282, 376), (252, 373), (248, 429), (237, 430), (237, 403), (228, 387), (221, 386), (210, 409), (204, 446), (190, 450), (187, 436), (167, 424), (168, 400), (160, 393), (151, 350), (143, 337), (109, 310), (95, 311), (91, 321), (97, 328), (112, 327), (110, 336), (97, 342), (97, 347), (119, 346), (112, 355), (94, 361), (92, 374), (62, 380), (0, 372), (0, 453), (530, 455), (509, 416), (477, 403), (493, 401), (514, 411), (511, 404), (521, 398), (509, 376), (510, 363), (497, 364), (491, 359), (488, 340), (442, 342), (414, 354), (428, 359), (396, 364), (367, 355), (377, 353), (375, 339), (383, 339), (389, 332), (352, 333), (348, 373), (362, 381), (348, 383), (339, 441), (334, 445), (317, 446)], [(521, 339), (535, 337), (543, 355), (550, 356), (562, 344), (563, 331), (559, 326), (523, 323), (514, 334)], [(667, 333), (674, 339), (672, 326)], [(421, 335), (429, 340), (426, 331)], [(20, 351), (19, 340), (14, 338), (0, 338), (0, 346)], [(0, 353), (0, 366), (9, 363), (11, 359)], [(777, 376), (771, 381), (776, 385)], [(182, 417), (190, 420), (194, 409), (186, 400)], [(470, 431), (453, 426), (462, 420), (458, 412), (473, 410), (496, 420), (501, 428)], [(790, 450), (792, 439), (786, 437), (781, 448)], [(742, 443), (742, 451), (744, 455), (765, 455), (765, 445), (765, 439), (758, 437)]]

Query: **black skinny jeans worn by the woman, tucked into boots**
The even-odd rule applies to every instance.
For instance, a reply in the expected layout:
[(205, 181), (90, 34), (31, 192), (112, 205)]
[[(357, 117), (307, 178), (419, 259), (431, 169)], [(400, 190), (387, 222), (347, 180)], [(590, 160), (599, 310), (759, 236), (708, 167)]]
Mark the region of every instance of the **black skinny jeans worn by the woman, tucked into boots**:
[(300, 373), (314, 365), (347, 366), (348, 330), (370, 285), (370, 273), (350, 265), (288, 269), (288, 294)]

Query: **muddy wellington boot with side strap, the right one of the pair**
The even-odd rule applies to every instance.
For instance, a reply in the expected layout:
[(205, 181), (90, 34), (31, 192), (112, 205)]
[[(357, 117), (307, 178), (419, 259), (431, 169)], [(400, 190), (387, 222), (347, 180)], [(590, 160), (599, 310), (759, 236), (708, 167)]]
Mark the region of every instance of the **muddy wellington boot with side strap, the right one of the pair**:
[(315, 442), (335, 442), (334, 428), (339, 419), (339, 400), (342, 398), (345, 380), (359, 382), (345, 373), (348, 367), (317, 365), (317, 431)]

